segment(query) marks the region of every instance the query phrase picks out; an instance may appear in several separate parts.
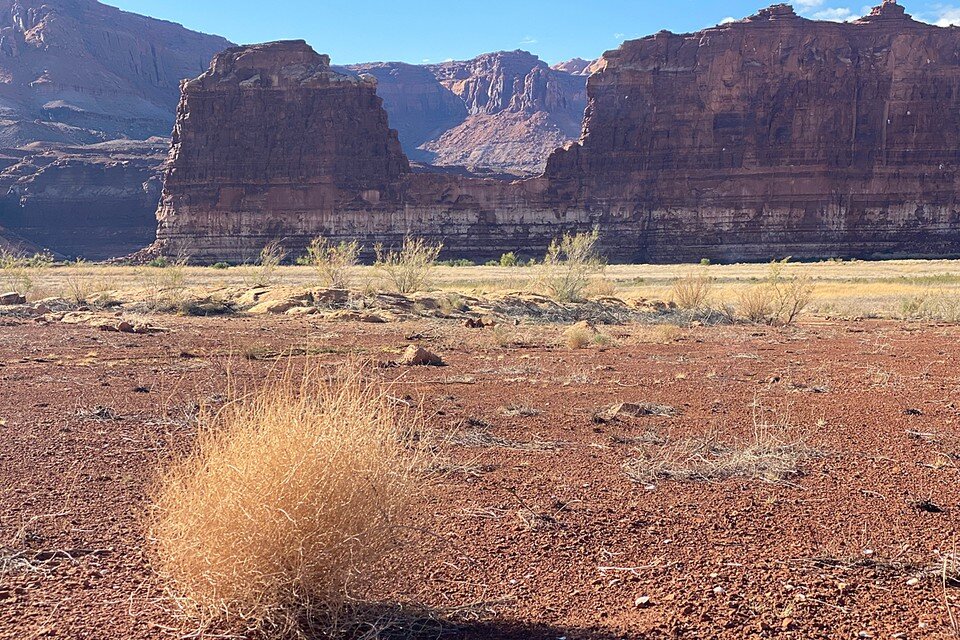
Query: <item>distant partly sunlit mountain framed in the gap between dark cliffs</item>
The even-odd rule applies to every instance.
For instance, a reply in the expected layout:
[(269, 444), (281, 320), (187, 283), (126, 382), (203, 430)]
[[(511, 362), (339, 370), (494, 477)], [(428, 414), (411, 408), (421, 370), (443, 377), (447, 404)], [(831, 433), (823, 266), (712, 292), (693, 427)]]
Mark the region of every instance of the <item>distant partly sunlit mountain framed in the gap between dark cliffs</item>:
[(377, 78), (390, 124), (418, 162), (539, 174), (554, 149), (580, 136), (585, 78), (551, 69), (526, 51), (349, 68)]

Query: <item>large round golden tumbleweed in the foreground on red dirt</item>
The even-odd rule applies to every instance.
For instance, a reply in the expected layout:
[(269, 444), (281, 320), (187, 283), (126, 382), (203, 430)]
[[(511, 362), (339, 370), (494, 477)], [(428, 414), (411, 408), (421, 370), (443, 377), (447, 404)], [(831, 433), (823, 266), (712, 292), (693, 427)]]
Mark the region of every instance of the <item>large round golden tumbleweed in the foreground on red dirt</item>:
[(202, 414), (149, 527), (183, 612), (281, 632), (341, 612), (416, 495), (415, 425), (400, 410), (362, 368), (327, 377), (310, 365)]

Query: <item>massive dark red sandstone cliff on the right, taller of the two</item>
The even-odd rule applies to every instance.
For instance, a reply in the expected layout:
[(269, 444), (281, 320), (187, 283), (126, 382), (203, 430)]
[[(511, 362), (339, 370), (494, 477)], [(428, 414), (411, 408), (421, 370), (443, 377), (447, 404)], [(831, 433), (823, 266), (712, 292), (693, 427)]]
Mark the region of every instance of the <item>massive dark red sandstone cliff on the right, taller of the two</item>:
[(627, 42), (547, 177), (631, 211), (654, 260), (955, 254), (958, 49), (889, 0), (852, 24), (775, 5)]

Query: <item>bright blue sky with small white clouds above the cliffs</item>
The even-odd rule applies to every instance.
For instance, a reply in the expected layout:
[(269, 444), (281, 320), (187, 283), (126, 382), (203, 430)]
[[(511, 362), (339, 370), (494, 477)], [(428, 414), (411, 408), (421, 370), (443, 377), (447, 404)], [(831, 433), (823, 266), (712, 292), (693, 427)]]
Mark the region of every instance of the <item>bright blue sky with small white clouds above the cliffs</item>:
[[(302, 38), (335, 64), (441, 62), (526, 49), (554, 63), (593, 59), (661, 29), (695, 31), (774, 0), (105, 0), (241, 44)], [(861, 0), (862, 2), (862, 0)], [(869, 4), (797, 0), (811, 18), (844, 20)], [(876, 0), (875, 3), (879, 3)], [(960, 24), (960, 0), (902, 0), (928, 22)]]

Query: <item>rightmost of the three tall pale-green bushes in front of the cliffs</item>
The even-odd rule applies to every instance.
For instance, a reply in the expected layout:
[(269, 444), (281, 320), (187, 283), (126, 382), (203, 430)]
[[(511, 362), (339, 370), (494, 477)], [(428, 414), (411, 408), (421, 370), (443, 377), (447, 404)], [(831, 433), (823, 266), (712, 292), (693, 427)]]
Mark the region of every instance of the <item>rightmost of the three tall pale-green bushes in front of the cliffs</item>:
[(599, 239), (600, 232), (594, 229), (590, 233), (565, 233), (554, 240), (538, 267), (540, 287), (560, 302), (582, 300), (590, 281), (606, 266), (597, 253)]

